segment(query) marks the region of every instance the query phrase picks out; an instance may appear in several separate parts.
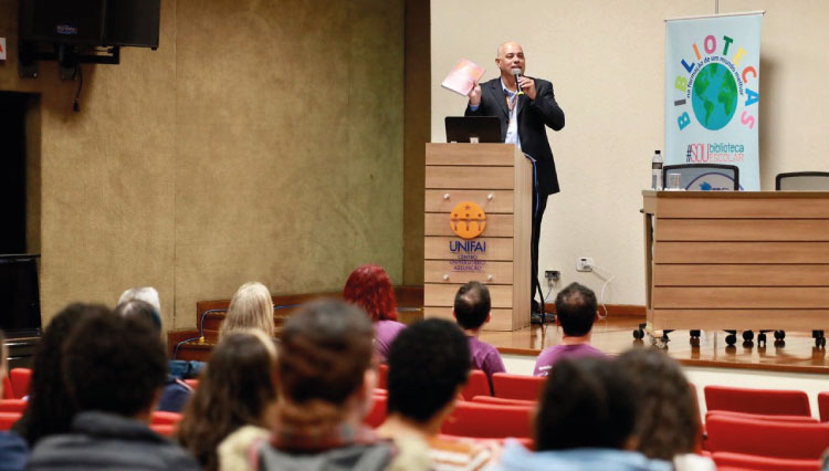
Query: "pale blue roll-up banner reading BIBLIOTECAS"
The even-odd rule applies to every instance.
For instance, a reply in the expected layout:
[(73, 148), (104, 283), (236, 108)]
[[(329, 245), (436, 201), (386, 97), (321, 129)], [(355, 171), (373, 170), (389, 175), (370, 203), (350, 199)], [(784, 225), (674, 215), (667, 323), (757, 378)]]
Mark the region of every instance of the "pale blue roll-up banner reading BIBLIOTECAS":
[(665, 20), (665, 165), (735, 165), (760, 189), (763, 13)]

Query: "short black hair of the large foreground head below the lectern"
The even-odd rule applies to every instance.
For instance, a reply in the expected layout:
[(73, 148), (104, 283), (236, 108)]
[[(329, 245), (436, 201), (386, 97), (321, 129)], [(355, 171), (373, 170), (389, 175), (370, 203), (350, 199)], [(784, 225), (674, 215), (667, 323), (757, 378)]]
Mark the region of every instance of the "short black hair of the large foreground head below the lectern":
[(429, 318), (400, 332), (389, 349), (388, 412), (431, 420), (466, 383), (469, 341), (452, 322)]

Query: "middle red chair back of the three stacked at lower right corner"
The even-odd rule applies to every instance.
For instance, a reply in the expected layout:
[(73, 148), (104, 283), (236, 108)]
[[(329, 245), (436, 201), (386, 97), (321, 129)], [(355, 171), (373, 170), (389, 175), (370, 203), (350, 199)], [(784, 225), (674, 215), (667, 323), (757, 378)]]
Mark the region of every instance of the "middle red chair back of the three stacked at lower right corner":
[(775, 422), (713, 415), (706, 449), (760, 457), (816, 460), (829, 447), (829, 423)]

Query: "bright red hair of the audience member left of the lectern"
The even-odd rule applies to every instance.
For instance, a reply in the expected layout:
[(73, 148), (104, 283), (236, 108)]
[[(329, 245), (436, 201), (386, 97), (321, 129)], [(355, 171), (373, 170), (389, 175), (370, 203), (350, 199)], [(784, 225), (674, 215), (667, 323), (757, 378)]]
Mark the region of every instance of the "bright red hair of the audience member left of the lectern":
[(377, 321), (397, 321), (397, 300), (391, 280), (378, 265), (361, 265), (348, 275), (343, 297)]

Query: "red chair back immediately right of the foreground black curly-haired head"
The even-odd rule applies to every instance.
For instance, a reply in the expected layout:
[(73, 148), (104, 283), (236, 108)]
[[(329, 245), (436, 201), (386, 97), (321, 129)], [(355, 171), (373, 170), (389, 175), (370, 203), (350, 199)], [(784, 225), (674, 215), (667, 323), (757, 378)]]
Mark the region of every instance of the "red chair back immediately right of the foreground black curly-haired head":
[(459, 401), (441, 433), (476, 438), (529, 438), (533, 407)]

